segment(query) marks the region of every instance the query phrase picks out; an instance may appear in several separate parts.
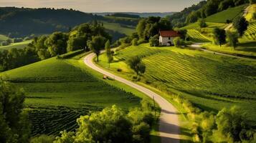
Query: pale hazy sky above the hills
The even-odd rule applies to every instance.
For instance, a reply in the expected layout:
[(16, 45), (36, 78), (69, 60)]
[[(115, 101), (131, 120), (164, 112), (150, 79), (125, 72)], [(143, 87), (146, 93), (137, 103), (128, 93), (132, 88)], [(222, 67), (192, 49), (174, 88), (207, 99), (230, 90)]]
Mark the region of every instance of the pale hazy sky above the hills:
[(0, 6), (49, 7), (84, 12), (170, 12), (202, 0), (0, 0)]

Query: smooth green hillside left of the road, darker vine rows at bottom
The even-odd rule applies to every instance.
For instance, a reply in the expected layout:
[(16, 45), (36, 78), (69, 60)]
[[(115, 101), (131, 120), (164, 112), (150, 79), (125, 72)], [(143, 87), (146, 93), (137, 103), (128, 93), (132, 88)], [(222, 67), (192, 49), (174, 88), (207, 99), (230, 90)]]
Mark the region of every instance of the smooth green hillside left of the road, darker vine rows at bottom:
[(54, 57), (0, 75), (27, 92), (25, 107), (34, 136), (73, 130), (80, 115), (113, 104), (123, 109), (139, 105), (139, 97), (110, 86), (90, 72), (82, 60)]

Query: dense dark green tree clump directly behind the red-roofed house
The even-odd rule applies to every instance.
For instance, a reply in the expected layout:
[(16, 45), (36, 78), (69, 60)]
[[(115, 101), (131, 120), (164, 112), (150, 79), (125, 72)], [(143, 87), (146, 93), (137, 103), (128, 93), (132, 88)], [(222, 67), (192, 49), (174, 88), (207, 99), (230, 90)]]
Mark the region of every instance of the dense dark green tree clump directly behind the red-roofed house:
[(158, 34), (159, 29), (172, 29), (171, 22), (168, 19), (163, 19), (161, 17), (148, 17), (146, 19), (141, 19), (136, 27), (139, 38), (143, 40), (148, 40), (151, 36)]

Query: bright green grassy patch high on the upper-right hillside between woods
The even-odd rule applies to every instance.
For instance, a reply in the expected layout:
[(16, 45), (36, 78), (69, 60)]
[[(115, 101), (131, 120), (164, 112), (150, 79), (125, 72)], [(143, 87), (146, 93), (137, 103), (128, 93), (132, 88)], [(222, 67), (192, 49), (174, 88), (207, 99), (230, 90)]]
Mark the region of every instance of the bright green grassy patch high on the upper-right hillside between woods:
[(221, 11), (212, 16), (208, 16), (205, 21), (207, 22), (216, 22), (216, 23), (226, 23), (227, 20), (233, 20), (236, 16), (242, 15), (242, 11), (246, 8), (246, 5), (232, 7)]

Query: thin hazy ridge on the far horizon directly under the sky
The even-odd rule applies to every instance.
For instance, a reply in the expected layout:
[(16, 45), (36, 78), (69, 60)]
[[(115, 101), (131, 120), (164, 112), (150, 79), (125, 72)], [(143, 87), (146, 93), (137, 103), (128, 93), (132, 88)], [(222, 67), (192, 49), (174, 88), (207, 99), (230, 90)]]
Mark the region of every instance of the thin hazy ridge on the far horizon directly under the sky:
[[(165, 16), (170, 16), (172, 14), (175, 14), (176, 12), (143, 12), (143, 13), (138, 13), (138, 12), (118, 12), (118, 14), (132, 14), (132, 15), (137, 15), (140, 17), (149, 17), (149, 16), (160, 16), (160, 17), (165, 17)], [(102, 12), (102, 13), (93, 13), (98, 16), (107, 16), (107, 15), (113, 15), (116, 14), (116, 12)]]

